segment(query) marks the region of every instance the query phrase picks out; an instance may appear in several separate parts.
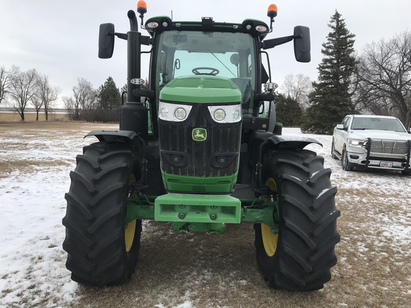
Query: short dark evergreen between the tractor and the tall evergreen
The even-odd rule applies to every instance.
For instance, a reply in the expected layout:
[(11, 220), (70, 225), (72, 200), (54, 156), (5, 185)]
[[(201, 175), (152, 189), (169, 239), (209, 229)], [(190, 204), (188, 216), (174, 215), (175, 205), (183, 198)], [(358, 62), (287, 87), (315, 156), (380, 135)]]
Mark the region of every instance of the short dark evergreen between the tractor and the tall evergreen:
[(277, 114), (277, 122), (283, 123), (283, 126), (300, 126), (303, 109), (298, 101), (295, 101), (295, 99), (290, 96), (277, 93), (275, 95), (275, 111)]

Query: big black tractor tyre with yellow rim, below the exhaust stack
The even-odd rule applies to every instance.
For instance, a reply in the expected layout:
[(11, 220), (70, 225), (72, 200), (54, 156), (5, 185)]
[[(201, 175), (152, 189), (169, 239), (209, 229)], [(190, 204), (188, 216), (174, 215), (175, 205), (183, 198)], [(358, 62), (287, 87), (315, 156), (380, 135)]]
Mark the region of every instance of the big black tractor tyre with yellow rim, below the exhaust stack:
[(78, 155), (66, 193), (66, 267), (90, 286), (123, 284), (133, 273), (141, 220), (125, 222), (128, 185), (140, 178), (136, 150), (126, 143), (93, 143)]

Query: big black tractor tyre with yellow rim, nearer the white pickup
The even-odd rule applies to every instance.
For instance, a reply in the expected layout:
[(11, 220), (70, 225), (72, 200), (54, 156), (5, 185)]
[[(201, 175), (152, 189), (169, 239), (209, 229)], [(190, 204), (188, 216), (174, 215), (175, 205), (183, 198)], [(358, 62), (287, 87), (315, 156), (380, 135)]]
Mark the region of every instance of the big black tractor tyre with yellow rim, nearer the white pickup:
[[(271, 287), (290, 291), (323, 288), (331, 278), (340, 242), (337, 189), (324, 158), (309, 150), (273, 150), (261, 169), (263, 183), (278, 197), (278, 230), (255, 224), (257, 261)], [(268, 197), (269, 199), (270, 197)]]

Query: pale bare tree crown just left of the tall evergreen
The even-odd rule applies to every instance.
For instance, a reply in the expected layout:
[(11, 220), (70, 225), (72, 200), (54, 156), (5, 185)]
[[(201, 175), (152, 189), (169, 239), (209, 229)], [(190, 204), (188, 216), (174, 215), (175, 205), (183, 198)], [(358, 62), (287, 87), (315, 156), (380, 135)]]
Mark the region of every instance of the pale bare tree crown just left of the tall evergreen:
[(297, 74), (296, 76), (290, 74), (285, 76), (280, 91), (288, 98), (297, 101), (301, 108), (305, 109), (309, 106), (308, 94), (313, 91), (312, 81), (310, 77), (303, 74)]

